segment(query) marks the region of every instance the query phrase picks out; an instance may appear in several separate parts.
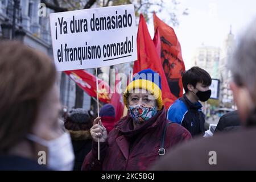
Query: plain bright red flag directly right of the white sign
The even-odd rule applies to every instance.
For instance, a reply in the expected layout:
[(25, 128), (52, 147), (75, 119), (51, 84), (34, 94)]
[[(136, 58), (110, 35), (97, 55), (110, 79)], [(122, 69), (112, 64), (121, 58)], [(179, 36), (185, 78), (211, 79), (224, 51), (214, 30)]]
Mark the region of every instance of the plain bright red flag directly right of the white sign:
[(137, 50), (138, 61), (134, 62), (133, 73), (138, 73), (142, 69), (147, 68), (151, 68), (153, 71), (158, 72), (162, 80), (163, 104), (166, 108), (168, 108), (174, 102), (175, 98), (171, 94), (168, 87), (168, 82), (166, 80), (166, 76), (164, 75), (160, 57), (147, 30), (147, 24), (142, 14), (139, 18)]

